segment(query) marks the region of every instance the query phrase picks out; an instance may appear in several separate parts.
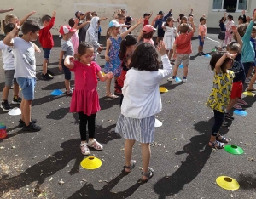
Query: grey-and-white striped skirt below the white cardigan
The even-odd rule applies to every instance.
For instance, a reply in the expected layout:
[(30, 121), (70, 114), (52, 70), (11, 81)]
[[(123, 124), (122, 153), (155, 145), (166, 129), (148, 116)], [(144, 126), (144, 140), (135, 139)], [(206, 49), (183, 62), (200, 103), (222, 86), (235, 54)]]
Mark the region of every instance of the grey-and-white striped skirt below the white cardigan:
[(154, 122), (154, 116), (137, 119), (121, 114), (116, 123), (115, 132), (125, 139), (137, 140), (140, 143), (153, 143)]

